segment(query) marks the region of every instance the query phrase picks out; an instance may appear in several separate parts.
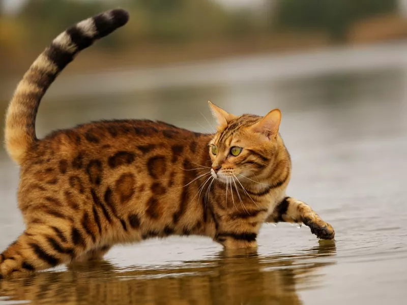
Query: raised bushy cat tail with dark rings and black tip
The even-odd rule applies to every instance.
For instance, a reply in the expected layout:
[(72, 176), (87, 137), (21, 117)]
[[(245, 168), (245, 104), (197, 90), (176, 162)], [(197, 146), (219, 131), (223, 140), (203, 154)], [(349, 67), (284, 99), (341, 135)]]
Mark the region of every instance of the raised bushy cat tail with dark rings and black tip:
[(37, 141), (38, 106), (56, 76), (79, 51), (125, 25), (128, 20), (128, 13), (122, 9), (83, 20), (61, 33), (38, 56), (18, 84), (6, 114), (6, 148), (15, 162), (21, 164), (27, 150)]

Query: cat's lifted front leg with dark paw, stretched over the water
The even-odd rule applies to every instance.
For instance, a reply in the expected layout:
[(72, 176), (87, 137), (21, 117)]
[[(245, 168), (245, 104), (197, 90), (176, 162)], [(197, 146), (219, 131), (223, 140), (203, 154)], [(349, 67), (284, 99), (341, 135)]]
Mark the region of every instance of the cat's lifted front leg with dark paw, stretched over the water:
[(335, 231), (329, 223), (323, 221), (308, 204), (292, 197), (285, 197), (278, 203), (266, 222), (303, 223), (318, 238), (333, 239), (335, 237)]

